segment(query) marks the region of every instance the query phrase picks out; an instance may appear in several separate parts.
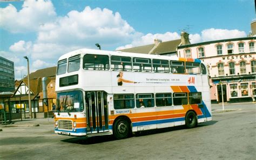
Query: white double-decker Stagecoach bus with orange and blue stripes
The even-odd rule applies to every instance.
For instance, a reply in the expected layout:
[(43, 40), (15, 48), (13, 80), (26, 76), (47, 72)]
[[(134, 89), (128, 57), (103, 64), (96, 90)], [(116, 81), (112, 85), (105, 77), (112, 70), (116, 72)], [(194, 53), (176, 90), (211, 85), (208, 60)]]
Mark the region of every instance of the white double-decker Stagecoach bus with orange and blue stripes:
[(212, 120), (206, 66), (198, 59), (79, 49), (60, 56), (55, 133), (114, 135)]

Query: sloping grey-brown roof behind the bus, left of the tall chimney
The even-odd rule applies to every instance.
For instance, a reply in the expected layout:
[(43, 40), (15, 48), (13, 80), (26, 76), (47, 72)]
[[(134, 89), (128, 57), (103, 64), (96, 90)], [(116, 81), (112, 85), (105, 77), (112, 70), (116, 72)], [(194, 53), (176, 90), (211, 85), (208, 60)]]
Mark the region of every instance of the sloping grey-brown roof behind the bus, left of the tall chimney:
[(158, 45), (154, 45), (153, 43), (151, 45), (120, 49), (119, 51), (144, 54), (149, 54), (150, 52), (150, 54), (168, 54), (175, 53), (180, 43), (181, 39), (177, 39), (172, 41), (160, 42)]

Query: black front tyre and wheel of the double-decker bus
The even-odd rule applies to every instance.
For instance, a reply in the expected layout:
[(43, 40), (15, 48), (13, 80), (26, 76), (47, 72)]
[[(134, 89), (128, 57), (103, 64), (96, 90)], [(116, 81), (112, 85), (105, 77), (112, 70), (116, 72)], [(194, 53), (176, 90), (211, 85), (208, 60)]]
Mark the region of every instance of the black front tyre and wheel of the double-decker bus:
[(116, 139), (126, 139), (130, 134), (130, 125), (124, 119), (118, 119), (113, 126), (113, 134)]

